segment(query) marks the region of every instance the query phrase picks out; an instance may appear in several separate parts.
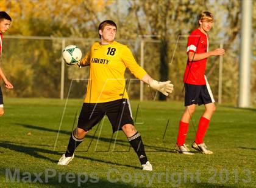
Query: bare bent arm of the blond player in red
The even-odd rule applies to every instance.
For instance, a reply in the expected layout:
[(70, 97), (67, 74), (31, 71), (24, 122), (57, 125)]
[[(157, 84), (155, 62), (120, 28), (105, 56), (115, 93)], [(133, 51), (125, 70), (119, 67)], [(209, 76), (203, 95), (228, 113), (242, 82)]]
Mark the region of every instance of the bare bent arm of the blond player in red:
[(218, 55), (224, 55), (224, 54), (225, 54), (224, 49), (215, 49), (213, 51), (206, 52), (206, 53), (188, 52), (188, 59), (189, 61), (199, 61), (201, 59), (205, 59), (210, 56), (218, 56)]

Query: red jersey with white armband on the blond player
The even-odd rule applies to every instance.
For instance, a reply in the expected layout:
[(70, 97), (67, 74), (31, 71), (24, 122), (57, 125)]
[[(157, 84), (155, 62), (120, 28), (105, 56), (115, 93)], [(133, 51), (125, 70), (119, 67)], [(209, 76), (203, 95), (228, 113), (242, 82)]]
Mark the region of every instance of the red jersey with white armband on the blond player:
[[(205, 53), (208, 52), (208, 35), (201, 32), (199, 29), (193, 30), (188, 36), (188, 52)], [(183, 82), (193, 85), (205, 85), (205, 68), (207, 58), (199, 61), (187, 61), (186, 70), (183, 77)]]

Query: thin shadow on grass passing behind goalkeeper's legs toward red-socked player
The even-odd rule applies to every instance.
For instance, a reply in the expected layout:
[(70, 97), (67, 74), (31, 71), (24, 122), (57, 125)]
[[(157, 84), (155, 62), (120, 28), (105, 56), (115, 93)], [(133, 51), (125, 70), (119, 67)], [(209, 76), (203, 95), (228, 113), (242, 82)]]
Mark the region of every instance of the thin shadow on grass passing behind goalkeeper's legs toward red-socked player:
[[(35, 129), (35, 130), (42, 130), (42, 131), (47, 131), (47, 132), (55, 132), (57, 133), (58, 130), (55, 130), (55, 129), (49, 129), (49, 128), (46, 128), (46, 127), (38, 127), (38, 126), (32, 126), (32, 125), (29, 125), (29, 124), (21, 124), (21, 123), (15, 123), (16, 125), (18, 126), (23, 126), (27, 129)], [(61, 134), (63, 135), (71, 135), (71, 131), (66, 131), (66, 130), (60, 130)], [(99, 140), (99, 141), (103, 141), (105, 143), (113, 143), (113, 141), (115, 141), (115, 144), (118, 144), (119, 146), (130, 146), (128, 141), (124, 141), (124, 140), (121, 140), (121, 139), (113, 139), (113, 138), (104, 138), (104, 137), (99, 137), (98, 136), (94, 136), (94, 135), (86, 135), (85, 136), (85, 139), (95, 139), (95, 140)], [(165, 143), (163, 143), (164, 146), (165, 146)], [(174, 152), (172, 149), (168, 149), (166, 146), (165, 147), (158, 147), (158, 146), (149, 146), (149, 145), (146, 145), (144, 144), (145, 147), (148, 147), (148, 149), (154, 149), (155, 151), (150, 151), (150, 152)]]

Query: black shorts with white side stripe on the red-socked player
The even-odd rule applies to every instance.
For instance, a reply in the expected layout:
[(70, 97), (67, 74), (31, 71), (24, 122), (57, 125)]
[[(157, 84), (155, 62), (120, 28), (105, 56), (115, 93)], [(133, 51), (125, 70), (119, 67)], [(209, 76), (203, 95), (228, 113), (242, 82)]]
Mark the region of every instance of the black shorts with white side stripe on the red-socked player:
[(215, 102), (212, 94), (212, 90), (208, 85), (193, 85), (184, 84), (185, 86), (185, 106), (190, 106), (191, 104), (208, 104)]

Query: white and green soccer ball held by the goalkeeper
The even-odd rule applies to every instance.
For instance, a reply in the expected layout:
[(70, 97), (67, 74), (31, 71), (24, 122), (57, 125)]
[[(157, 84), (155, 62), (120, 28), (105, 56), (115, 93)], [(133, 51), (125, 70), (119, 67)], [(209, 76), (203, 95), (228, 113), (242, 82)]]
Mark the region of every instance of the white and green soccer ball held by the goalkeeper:
[(68, 45), (62, 52), (62, 58), (66, 64), (74, 65), (82, 58), (82, 52), (76, 45)]

